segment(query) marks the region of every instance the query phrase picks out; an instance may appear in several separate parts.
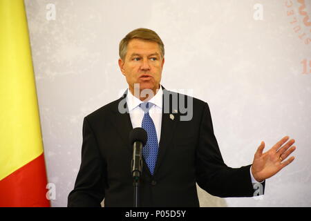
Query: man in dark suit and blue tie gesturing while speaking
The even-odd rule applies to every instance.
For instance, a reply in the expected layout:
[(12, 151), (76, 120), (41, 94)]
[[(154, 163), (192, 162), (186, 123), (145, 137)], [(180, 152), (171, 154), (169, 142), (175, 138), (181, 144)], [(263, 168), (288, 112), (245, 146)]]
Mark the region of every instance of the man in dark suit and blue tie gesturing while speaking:
[(140, 206), (199, 206), (196, 183), (219, 197), (252, 197), (254, 184), (264, 186), (294, 160), (285, 160), (296, 148), (286, 136), (265, 153), (261, 142), (252, 165), (228, 167), (208, 104), (161, 86), (163, 65), (164, 44), (153, 30), (138, 28), (122, 39), (119, 66), (129, 89), (84, 118), (82, 162), (68, 206), (100, 206), (103, 199), (105, 206), (133, 206), (135, 127), (148, 134)]

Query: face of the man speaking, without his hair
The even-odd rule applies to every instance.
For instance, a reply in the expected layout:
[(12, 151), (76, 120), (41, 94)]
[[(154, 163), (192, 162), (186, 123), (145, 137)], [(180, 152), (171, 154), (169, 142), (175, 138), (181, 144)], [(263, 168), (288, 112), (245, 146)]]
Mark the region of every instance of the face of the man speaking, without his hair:
[(140, 91), (151, 89), (156, 93), (160, 87), (164, 58), (155, 41), (132, 39), (127, 46), (124, 61), (119, 59), (122, 74), (126, 77), (131, 93), (134, 84), (140, 84)]

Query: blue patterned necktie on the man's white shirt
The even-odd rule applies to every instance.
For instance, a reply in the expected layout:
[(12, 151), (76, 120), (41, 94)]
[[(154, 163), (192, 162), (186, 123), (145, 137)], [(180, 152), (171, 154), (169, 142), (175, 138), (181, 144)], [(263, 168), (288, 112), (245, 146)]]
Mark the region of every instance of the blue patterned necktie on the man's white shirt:
[(152, 103), (144, 102), (140, 104), (140, 108), (144, 111), (144, 117), (142, 118), (142, 128), (147, 131), (148, 140), (147, 144), (142, 148), (142, 155), (149, 167), (151, 175), (153, 175), (154, 168), (156, 167), (156, 161), (158, 157), (158, 138), (156, 133), (156, 126), (154, 126), (153, 120), (149, 115), (149, 110), (153, 106)]

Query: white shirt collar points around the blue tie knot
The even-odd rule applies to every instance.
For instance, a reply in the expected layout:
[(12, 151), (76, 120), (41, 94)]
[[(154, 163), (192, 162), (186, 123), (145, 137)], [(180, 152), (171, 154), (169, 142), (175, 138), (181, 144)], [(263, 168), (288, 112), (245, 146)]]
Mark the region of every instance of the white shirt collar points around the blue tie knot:
[[(163, 90), (162, 86), (160, 85), (160, 88), (158, 89), (158, 92), (156, 95), (154, 95), (148, 102), (151, 102), (152, 104), (155, 104), (159, 108), (162, 108), (162, 100), (163, 100)], [(138, 105), (142, 104), (143, 102), (132, 95), (131, 91), (127, 89), (127, 95), (126, 95), (126, 104), (127, 108), (129, 108), (129, 111), (132, 111), (134, 108), (136, 108)]]

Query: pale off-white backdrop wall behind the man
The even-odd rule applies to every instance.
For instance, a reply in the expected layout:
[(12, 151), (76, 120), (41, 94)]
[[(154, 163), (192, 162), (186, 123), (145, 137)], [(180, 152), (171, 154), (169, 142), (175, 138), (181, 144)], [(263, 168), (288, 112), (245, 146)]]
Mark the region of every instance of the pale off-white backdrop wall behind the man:
[(252, 163), (262, 140), (296, 140), (296, 160), (267, 180), (263, 198), (199, 190), (201, 206), (311, 206), (311, 1), (25, 3), (53, 206), (66, 206), (73, 189), (84, 116), (127, 86), (118, 44), (135, 28), (164, 41), (162, 85), (209, 103), (228, 166)]

